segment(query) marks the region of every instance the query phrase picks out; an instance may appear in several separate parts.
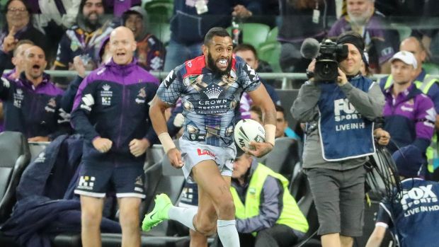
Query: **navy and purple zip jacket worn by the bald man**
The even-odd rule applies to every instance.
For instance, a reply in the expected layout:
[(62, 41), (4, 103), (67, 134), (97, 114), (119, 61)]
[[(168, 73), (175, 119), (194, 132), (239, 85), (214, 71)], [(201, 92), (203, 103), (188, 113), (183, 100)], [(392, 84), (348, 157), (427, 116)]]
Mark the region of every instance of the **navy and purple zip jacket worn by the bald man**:
[[(130, 153), (132, 139), (152, 139), (149, 101), (159, 81), (133, 61), (127, 65), (112, 61), (89, 74), (81, 82), (74, 99), (72, 124), (83, 134), (84, 161), (100, 161), (117, 156), (126, 161), (144, 161)], [(96, 137), (108, 138), (113, 147), (106, 154), (91, 144)]]

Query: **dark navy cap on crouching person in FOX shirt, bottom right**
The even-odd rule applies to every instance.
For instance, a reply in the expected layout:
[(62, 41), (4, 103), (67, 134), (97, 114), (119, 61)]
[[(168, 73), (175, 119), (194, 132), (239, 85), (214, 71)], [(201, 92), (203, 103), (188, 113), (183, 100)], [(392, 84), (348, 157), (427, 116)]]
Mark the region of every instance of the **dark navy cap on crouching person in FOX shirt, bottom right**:
[(418, 147), (414, 145), (401, 147), (401, 149), (392, 154), (392, 158), (397, 164), (399, 175), (406, 178), (415, 178), (423, 175), (423, 165), (426, 163), (426, 159)]

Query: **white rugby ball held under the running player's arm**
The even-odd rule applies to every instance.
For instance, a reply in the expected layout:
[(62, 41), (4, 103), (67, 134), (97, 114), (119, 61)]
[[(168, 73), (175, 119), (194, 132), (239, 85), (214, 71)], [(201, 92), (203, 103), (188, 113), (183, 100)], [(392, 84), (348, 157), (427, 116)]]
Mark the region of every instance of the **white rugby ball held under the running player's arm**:
[(234, 139), (240, 149), (252, 149), (249, 147), (250, 142), (266, 142), (266, 130), (255, 120), (239, 120), (234, 128)]

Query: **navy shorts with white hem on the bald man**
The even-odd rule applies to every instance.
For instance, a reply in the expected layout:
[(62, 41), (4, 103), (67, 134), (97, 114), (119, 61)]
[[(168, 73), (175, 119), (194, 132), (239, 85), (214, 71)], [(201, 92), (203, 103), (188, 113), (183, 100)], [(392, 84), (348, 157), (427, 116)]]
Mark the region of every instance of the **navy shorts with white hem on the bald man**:
[(90, 197), (105, 197), (113, 186), (116, 197), (144, 198), (144, 180), (142, 166), (114, 166), (113, 163), (101, 163), (91, 166), (84, 163), (79, 171), (79, 183), (75, 194)]

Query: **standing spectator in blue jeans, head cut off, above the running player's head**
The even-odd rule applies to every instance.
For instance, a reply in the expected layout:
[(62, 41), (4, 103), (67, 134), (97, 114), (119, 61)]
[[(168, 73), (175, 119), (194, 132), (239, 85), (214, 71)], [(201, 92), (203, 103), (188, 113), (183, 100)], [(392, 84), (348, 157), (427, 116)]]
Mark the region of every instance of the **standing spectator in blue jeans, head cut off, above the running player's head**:
[[(200, 3), (199, 5), (195, 3)], [(227, 28), (231, 17), (246, 18), (261, 13), (261, 1), (179, 1), (174, 0), (171, 40), (166, 47), (165, 71), (201, 54), (207, 30)], [(232, 10), (232, 11), (231, 11)]]

